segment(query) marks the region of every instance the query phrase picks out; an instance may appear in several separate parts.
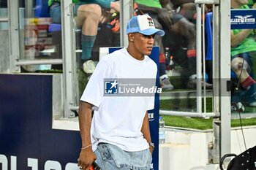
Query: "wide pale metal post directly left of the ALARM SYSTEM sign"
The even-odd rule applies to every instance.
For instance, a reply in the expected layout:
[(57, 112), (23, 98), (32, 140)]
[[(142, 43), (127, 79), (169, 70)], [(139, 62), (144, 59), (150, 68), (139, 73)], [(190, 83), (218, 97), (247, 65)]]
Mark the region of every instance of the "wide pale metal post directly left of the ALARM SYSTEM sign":
[(219, 11), (219, 68), (220, 68), (220, 157), (230, 153), (230, 1), (220, 1)]

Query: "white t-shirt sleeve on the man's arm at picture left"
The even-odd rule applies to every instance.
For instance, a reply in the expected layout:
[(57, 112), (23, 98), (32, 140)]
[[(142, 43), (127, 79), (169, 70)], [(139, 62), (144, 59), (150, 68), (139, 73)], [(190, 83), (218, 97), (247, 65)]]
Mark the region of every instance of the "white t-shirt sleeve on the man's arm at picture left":
[(104, 95), (104, 81), (113, 75), (110, 63), (106, 60), (107, 57), (99, 61), (94, 73), (91, 75), (89, 82), (80, 98), (81, 101), (86, 101), (99, 107)]

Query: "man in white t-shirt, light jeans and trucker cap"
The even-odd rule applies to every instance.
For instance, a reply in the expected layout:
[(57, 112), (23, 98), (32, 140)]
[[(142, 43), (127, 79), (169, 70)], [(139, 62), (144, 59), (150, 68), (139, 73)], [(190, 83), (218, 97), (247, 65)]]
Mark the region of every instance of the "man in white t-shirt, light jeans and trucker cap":
[[(102, 170), (150, 169), (154, 144), (147, 110), (154, 109), (157, 65), (148, 55), (154, 36), (164, 34), (149, 15), (138, 15), (127, 25), (128, 47), (97, 64), (80, 98), (80, 169), (92, 163)], [(151, 90), (136, 87), (145, 82)]]

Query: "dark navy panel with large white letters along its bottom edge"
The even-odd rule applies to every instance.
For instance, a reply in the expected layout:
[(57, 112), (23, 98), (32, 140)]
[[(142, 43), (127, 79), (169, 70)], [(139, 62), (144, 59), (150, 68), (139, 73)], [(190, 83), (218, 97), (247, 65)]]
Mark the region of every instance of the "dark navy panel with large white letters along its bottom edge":
[(0, 74), (0, 169), (80, 170), (79, 131), (52, 128), (51, 75)]

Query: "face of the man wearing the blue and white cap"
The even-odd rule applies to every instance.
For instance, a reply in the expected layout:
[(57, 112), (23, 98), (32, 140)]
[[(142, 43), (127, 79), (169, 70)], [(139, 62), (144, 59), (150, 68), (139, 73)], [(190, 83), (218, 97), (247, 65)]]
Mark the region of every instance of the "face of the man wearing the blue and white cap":
[(134, 36), (134, 47), (138, 53), (142, 55), (150, 55), (154, 44), (153, 35), (143, 35), (140, 33), (133, 33)]

